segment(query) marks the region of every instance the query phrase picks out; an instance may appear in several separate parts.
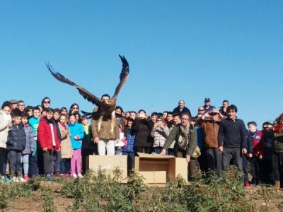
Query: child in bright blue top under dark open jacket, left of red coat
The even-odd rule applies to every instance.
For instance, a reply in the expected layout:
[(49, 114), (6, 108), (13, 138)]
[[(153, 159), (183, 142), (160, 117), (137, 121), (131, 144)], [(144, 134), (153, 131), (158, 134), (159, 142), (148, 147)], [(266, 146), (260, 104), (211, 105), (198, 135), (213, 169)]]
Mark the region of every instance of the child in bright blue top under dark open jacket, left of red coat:
[[(33, 117), (31, 117), (28, 120), (28, 123), (30, 124), (31, 128), (33, 129), (33, 139), (34, 139), (34, 145), (33, 145), (33, 153), (30, 154), (30, 158), (28, 160), (29, 163), (29, 174), (30, 177), (36, 176), (38, 174), (38, 167), (37, 167), (37, 162), (42, 162), (42, 167), (43, 167), (43, 161), (39, 160), (38, 161), (38, 151), (37, 148), (39, 148), (38, 145), (38, 139), (37, 139), (37, 129), (38, 125), (40, 124), (40, 107), (33, 107)], [(41, 159), (41, 158), (40, 158)], [(43, 172), (43, 169), (42, 169)]]

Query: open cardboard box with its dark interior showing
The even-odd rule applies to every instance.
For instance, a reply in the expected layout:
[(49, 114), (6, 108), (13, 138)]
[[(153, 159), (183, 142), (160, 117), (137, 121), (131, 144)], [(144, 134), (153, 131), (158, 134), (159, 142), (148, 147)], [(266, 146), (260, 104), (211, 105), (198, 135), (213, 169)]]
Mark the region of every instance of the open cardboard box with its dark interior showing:
[(174, 156), (149, 155), (138, 153), (134, 158), (134, 170), (144, 176), (144, 183), (166, 183), (168, 177), (178, 175), (187, 181), (187, 161)]

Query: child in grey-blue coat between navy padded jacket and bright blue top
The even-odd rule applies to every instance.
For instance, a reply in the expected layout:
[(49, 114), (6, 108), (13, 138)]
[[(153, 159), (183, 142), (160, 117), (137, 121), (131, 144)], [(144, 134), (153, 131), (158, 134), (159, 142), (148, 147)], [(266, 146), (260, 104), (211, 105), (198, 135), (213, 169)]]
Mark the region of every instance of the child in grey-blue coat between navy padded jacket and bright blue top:
[(35, 140), (33, 139), (33, 129), (30, 124), (28, 124), (28, 114), (23, 114), (22, 117), (23, 129), (25, 130), (25, 150), (22, 153), (23, 160), (23, 179), (28, 181), (28, 159), (30, 157), (30, 153), (33, 153)]

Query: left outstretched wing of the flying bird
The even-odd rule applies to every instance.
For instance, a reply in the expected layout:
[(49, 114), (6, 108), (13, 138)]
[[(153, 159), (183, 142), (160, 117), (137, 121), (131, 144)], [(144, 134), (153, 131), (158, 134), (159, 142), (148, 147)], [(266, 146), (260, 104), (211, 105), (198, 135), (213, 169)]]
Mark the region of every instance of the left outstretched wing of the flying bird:
[(88, 90), (86, 90), (85, 88), (83, 88), (79, 85), (76, 85), (76, 83), (74, 83), (73, 81), (70, 81), (68, 78), (63, 76), (61, 73), (54, 71), (53, 67), (50, 64), (46, 63), (46, 66), (47, 66), (47, 69), (52, 74), (52, 76), (54, 76), (54, 78), (57, 78), (58, 81), (60, 81), (62, 83), (67, 83), (70, 86), (74, 86), (76, 89), (79, 90), (79, 93), (83, 96), (83, 98), (88, 100), (88, 102), (92, 102), (94, 105), (97, 105), (97, 106), (100, 105), (101, 100), (99, 98), (97, 98), (95, 95), (88, 92)]

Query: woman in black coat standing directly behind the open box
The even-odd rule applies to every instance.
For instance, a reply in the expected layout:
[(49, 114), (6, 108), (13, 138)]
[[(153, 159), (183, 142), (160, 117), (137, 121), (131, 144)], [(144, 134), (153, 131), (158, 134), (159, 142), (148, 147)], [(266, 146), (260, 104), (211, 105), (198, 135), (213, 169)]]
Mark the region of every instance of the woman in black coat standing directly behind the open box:
[(134, 153), (151, 153), (151, 139), (149, 120), (145, 110), (139, 110), (137, 119), (134, 120), (132, 130), (136, 134), (136, 141), (134, 142)]

